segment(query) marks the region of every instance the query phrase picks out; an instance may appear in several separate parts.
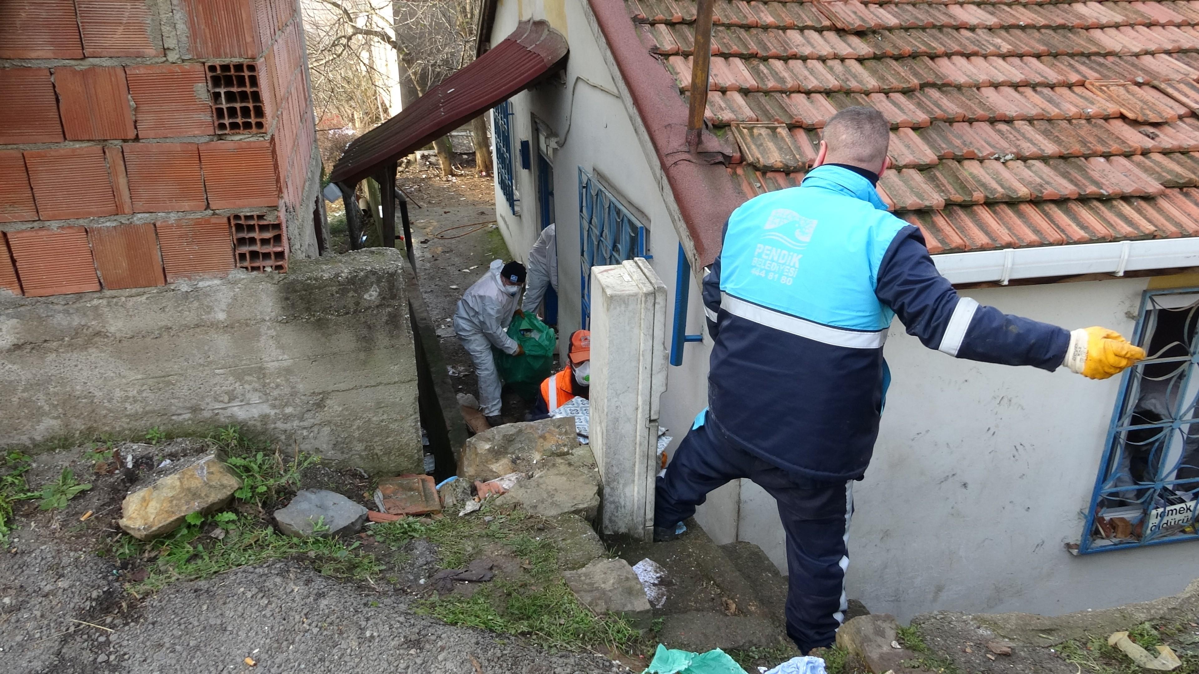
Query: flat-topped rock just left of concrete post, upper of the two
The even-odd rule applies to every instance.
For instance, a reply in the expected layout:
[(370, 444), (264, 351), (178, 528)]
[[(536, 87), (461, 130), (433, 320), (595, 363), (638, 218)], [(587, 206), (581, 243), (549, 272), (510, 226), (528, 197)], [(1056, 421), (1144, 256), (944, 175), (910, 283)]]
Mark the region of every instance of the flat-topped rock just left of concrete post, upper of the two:
[(567, 456), (578, 446), (573, 417), (505, 423), (466, 440), (458, 475), (468, 482), (486, 482), (510, 473), (529, 473), (543, 458)]

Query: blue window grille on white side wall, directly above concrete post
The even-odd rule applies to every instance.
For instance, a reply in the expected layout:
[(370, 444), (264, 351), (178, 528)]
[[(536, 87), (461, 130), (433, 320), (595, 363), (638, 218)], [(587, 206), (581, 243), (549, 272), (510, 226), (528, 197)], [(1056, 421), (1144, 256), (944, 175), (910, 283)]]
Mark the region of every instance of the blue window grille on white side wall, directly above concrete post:
[(579, 265), (583, 325), (591, 325), (591, 267), (645, 258), (645, 225), (600, 182), (579, 167)]

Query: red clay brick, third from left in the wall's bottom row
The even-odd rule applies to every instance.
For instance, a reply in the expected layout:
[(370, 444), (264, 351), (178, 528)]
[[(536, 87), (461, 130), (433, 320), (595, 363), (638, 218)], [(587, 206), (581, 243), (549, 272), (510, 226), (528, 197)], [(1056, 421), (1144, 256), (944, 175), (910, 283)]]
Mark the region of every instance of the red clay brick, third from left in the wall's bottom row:
[(153, 223), (89, 227), (88, 240), (104, 288), (150, 288), (167, 283)]

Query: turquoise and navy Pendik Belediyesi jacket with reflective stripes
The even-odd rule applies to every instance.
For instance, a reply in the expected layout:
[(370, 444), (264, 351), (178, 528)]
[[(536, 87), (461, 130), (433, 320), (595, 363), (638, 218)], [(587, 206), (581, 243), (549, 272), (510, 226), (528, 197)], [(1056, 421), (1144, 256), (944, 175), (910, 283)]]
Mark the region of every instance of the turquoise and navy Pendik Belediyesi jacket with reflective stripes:
[(713, 338), (709, 422), (761, 458), (818, 480), (860, 479), (890, 373), (898, 314), (952, 356), (1054, 369), (1070, 333), (958, 297), (920, 230), (838, 166), (729, 216), (704, 277)]

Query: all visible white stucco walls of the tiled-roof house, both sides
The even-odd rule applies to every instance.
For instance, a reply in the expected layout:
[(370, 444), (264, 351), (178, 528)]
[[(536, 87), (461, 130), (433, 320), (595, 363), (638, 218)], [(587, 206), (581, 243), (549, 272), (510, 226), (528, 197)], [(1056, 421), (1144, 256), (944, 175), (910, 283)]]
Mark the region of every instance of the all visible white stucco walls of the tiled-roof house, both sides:
[[(559, 137), (552, 157), (559, 245), (559, 327), (579, 326), (578, 168), (598, 171), (626, 205), (645, 213), (650, 260), (674, 307), (677, 235), (662, 197), (657, 160), (646, 157), (580, 0), (504, 0), (493, 43), (524, 18), (566, 35), (564, 79), (512, 98), (513, 152), (534, 152), (536, 115)], [(564, 83), (565, 82), (565, 83)], [(516, 180), (522, 213), (496, 189), (500, 229), (524, 260), (540, 229), (532, 170)], [(669, 368), (662, 425), (679, 439), (706, 405), (710, 343), (699, 288), (691, 283), (688, 333)], [(1066, 327), (1107, 325), (1131, 333), (1145, 279), (1034, 285), (965, 293), (1006, 312)], [(669, 317), (668, 317), (669, 319)], [(669, 344), (668, 344), (669, 348)], [(856, 485), (849, 596), (903, 619), (951, 609), (1060, 614), (1168, 595), (1199, 577), (1195, 543), (1076, 558), (1119, 380), (1062, 371), (1007, 368), (926, 349), (897, 320), (886, 347), (893, 383), (874, 462)], [(748, 481), (710, 494), (697, 518), (717, 542), (759, 544), (785, 570), (773, 500)]]

